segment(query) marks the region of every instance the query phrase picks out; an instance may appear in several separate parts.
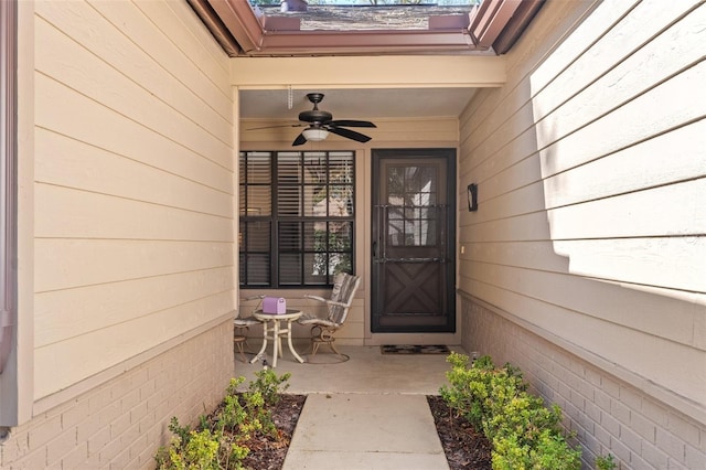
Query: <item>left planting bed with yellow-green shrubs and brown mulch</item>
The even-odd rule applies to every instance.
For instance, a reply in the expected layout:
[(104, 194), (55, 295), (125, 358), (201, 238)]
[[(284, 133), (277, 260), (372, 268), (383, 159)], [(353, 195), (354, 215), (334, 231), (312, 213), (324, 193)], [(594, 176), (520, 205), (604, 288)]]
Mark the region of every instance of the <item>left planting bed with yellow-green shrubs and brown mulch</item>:
[(195, 429), (173, 417), (171, 441), (154, 457), (158, 469), (281, 468), (306, 399), (282, 394), (289, 377), (263, 370), (245, 392), (238, 392), (245, 377), (232, 378), (221, 405)]

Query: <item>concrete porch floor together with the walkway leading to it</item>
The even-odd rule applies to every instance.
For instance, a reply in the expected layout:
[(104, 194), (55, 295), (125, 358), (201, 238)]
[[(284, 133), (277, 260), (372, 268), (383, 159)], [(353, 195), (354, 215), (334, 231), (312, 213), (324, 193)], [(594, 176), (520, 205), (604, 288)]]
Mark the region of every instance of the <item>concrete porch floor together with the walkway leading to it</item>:
[[(300, 355), (306, 351), (295, 346)], [(284, 469), (448, 469), (426, 400), (447, 383), (447, 355), (338, 348), (349, 361), (332, 363), (324, 350), (313, 360), (302, 355), (311, 362), (300, 364), (285, 346), (277, 362), (278, 374), (291, 373), (287, 393), (308, 395)], [(464, 353), (459, 346), (449, 349)], [(271, 363), (271, 348), (267, 352)], [(236, 353), (236, 376), (250, 381), (261, 366), (244, 363)]]

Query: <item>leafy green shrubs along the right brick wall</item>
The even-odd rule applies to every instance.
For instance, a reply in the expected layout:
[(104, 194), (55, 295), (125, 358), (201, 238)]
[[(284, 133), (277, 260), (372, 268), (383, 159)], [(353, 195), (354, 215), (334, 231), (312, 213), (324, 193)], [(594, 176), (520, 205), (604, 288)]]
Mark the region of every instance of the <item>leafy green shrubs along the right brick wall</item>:
[(547, 408), (542, 398), (528, 394), (518, 368), (498, 368), (489, 356), (470, 367), (463, 354), (451, 353), (447, 361), (450, 386), (440, 388), (441, 397), (491, 440), (493, 469), (580, 468), (580, 450), (571, 449), (561, 435), (561, 409)]

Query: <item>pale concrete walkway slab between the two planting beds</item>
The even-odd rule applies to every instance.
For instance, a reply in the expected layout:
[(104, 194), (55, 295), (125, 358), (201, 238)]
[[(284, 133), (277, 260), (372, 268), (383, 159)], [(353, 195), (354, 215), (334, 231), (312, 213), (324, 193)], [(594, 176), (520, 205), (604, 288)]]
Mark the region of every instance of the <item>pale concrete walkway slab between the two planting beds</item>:
[(284, 470), (448, 469), (424, 395), (312, 394)]

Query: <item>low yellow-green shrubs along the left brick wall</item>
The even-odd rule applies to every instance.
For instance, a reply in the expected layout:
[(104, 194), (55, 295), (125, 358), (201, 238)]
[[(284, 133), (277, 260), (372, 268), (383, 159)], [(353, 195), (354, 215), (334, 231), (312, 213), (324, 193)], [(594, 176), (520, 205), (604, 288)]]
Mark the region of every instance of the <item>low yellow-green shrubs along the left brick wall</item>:
[(242, 469), (249, 449), (248, 440), (260, 434), (277, 439), (271, 418), (271, 405), (279, 402), (280, 391), (290, 374), (277, 376), (274, 371), (260, 371), (247, 392), (238, 393), (245, 377), (232, 378), (221, 406), (210, 416), (201, 416), (196, 429), (181, 426), (173, 417), (169, 430), (173, 436), (169, 446), (161, 447), (154, 460), (160, 470)]

